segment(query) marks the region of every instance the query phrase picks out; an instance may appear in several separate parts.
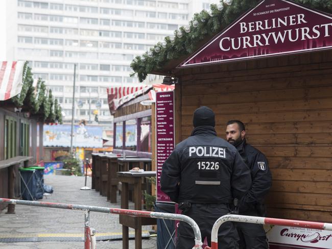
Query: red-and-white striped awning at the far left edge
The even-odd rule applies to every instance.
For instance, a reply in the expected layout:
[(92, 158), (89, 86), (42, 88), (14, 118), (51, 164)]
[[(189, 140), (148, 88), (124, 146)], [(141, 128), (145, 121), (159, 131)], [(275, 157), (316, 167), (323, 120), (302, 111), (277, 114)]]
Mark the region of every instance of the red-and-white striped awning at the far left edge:
[(21, 92), (24, 61), (0, 62), (0, 101), (6, 101)]

